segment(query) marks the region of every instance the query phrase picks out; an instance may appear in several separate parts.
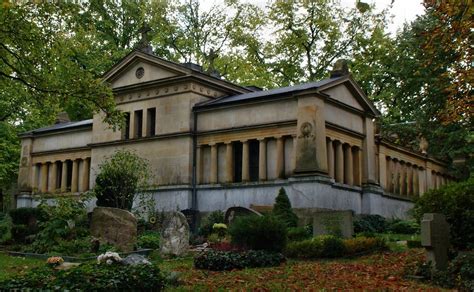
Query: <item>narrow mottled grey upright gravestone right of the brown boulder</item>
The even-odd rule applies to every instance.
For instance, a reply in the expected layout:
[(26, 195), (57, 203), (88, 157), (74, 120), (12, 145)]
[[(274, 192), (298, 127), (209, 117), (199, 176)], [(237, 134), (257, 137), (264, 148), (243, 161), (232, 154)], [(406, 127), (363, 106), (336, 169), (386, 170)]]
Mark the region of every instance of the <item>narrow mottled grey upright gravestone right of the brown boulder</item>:
[(165, 255), (181, 256), (189, 248), (189, 225), (181, 212), (165, 215), (161, 231), (160, 252)]

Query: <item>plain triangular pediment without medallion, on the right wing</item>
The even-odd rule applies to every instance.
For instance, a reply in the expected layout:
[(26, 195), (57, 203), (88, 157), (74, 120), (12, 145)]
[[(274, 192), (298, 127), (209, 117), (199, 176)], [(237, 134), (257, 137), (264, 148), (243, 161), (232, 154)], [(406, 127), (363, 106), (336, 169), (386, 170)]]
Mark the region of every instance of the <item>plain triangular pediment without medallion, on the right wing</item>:
[(351, 108), (374, 116), (380, 115), (372, 101), (367, 98), (359, 85), (350, 76), (322, 86), (320, 92)]

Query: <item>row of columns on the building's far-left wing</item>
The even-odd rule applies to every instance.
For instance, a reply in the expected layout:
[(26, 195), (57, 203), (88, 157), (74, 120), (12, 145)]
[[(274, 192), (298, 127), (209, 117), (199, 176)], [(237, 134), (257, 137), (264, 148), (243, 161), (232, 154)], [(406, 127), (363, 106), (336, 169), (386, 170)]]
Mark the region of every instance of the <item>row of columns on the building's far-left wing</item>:
[(34, 192), (84, 192), (89, 189), (90, 158), (48, 161), (32, 167)]

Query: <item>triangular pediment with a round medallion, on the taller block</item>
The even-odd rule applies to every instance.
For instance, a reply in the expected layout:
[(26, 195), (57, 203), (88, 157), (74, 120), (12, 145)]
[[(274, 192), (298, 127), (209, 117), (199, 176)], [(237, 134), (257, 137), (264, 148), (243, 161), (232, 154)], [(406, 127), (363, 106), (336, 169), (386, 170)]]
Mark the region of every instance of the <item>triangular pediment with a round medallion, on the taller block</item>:
[(181, 66), (163, 59), (133, 51), (103, 77), (112, 88), (125, 87), (160, 79), (186, 75)]

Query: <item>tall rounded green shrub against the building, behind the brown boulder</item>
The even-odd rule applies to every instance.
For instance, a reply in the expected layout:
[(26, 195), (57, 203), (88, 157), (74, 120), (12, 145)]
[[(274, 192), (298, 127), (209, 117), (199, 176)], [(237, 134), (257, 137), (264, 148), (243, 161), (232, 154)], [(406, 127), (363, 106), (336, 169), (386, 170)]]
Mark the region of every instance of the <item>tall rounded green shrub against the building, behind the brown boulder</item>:
[(149, 178), (148, 162), (128, 150), (118, 150), (99, 165), (92, 190), (97, 206), (130, 211), (137, 193), (144, 190)]

